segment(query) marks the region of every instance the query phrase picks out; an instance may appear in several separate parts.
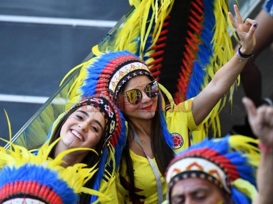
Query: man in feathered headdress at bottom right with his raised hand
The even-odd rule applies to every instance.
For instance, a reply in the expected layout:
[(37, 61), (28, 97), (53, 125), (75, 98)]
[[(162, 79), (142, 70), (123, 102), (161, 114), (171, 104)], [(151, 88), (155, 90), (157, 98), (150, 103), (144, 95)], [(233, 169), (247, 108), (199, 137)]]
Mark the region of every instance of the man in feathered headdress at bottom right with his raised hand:
[(191, 146), (177, 154), (165, 173), (164, 203), (272, 203), (273, 107), (256, 109), (248, 98), (243, 98), (243, 103), (251, 128), (259, 138), (260, 155), (253, 145), (258, 140), (239, 135)]

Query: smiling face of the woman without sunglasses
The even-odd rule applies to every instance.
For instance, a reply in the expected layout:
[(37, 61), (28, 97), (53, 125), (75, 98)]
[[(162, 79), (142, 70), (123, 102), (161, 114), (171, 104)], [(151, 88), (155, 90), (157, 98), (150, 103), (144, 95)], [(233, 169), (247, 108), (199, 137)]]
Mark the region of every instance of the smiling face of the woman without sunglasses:
[[(88, 104), (88, 103), (87, 103)], [(95, 103), (94, 103), (95, 104)], [(61, 137), (60, 141), (52, 152), (53, 157), (56, 157), (60, 152), (77, 147), (94, 148), (97, 152), (102, 148), (104, 138), (106, 135), (106, 121), (94, 104), (82, 105), (73, 108), (66, 117), (64, 123), (59, 125), (56, 129), (55, 135), (51, 141), (55, 141), (56, 137)], [(103, 139), (104, 138), (104, 139)], [(77, 151), (66, 156), (66, 164), (63, 166), (70, 166), (70, 163), (77, 163), (82, 161), (89, 151)], [(77, 154), (77, 157), (75, 157)], [(92, 154), (90, 160), (97, 162), (98, 155)], [(95, 163), (94, 163), (95, 164)]]

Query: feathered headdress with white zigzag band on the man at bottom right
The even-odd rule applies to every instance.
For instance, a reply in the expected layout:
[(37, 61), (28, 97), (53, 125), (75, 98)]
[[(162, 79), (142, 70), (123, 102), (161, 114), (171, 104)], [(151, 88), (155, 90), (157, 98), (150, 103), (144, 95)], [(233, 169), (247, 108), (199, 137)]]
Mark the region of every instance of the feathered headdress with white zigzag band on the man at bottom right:
[(250, 203), (257, 194), (256, 170), (260, 157), (259, 149), (253, 145), (257, 143), (256, 139), (237, 135), (206, 138), (179, 152), (165, 174), (168, 191), (194, 172), (199, 179), (213, 181), (231, 194), (236, 204)]

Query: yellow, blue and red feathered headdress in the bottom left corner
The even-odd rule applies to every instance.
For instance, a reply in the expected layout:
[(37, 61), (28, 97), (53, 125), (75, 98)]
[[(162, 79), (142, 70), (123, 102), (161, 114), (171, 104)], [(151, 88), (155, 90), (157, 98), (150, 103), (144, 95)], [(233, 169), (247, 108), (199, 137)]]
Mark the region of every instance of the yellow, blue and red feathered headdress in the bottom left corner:
[(71, 149), (62, 152), (55, 159), (48, 158), (56, 142), (41, 147), (37, 155), (33, 155), (25, 147), (12, 143), (7, 151), (0, 147), (1, 202), (19, 194), (23, 195), (24, 200), (32, 197), (48, 203), (77, 203), (78, 193), (103, 196), (99, 192), (83, 187), (94, 175), (95, 167), (85, 168), (86, 164), (80, 163), (67, 168), (60, 166), (62, 157), (69, 152), (88, 148)]

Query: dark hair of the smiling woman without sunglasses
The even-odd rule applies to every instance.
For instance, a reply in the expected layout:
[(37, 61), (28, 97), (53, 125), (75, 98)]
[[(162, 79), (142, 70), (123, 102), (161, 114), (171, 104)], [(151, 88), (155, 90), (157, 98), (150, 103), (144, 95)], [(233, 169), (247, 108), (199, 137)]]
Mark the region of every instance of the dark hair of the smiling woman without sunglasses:
[[(52, 142), (54, 142), (56, 139), (58, 139), (60, 137), (60, 130), (61, 130), (62, 125), (64, 125), (64, 123), (67, 121), (68, 117), (72, 113), (74, 113), (78, 108), (79, 107), (75, 107), (74, 109), (70, 110), (59, 121), (59, 123), (57, 124), (57, 126), (55, 128), (55, 131), (53, 132), (53, 134), (52, 134), (52, 136), (50, 138), (49, 144), (51, 144)], [(104, 128), (104, 130), (102, 132), (102, 137), (100, 137), (100, 140), (99, 140), (98, 144), (93, 148), (99, 155), (95, 154), (95, 152), (93, 152), (93, 151), (89, 151), (87, 156), (85, 158), (83, 158), (83, 160), (81, 161), (81, 163), (87, 164), (87, 168), (91, 168), (96, 163), (99, 162), (105, 136), (106, 136), (106, 129)], [(56, 145), (50, 151), (49, 157), (55, 158), (55, 151), (56, 151)], [(94, 185), (95, 178), (96, 178), (96, 174), (93, 175), (92, 178), (85, 184), (85, 187), (92, 188), (93, 185)], [(90, 197), (91, 197), (91, 195), (86, 194), (86, 193), (82, 193), (79, 196), (79, 203), (89, 204), (90, 203)]]

